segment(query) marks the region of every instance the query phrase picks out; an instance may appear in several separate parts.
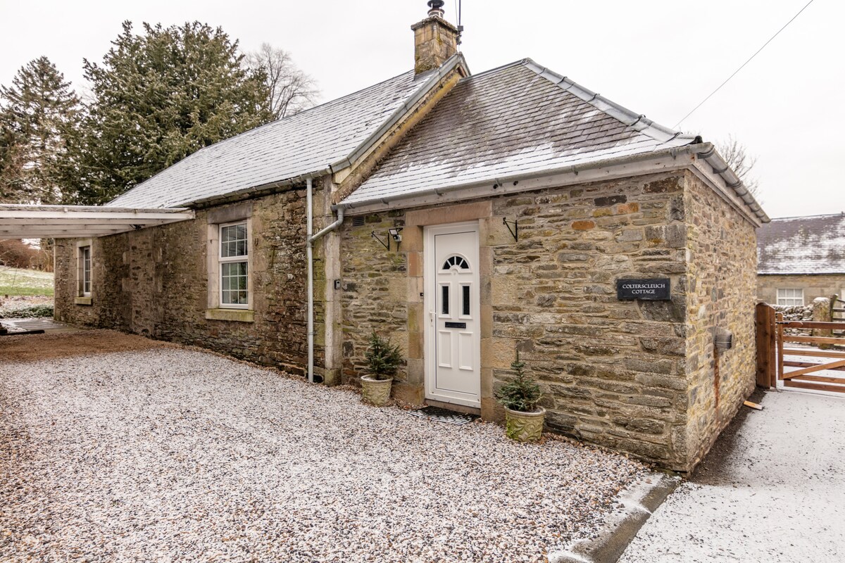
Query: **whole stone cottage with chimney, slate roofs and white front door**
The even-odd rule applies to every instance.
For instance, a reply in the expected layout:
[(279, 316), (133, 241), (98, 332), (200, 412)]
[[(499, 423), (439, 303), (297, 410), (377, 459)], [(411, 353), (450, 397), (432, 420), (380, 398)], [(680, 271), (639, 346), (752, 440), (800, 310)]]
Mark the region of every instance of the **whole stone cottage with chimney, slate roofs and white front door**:
[(397, 398), (486, 420), (519, 351), (550, 430), (689, 471), (754, 387), (766, 214), (701, 138), (529, 59), (470, 73), (442, 4), (412, 71), (110, 204), (193, 219), (60, 241), (57, 318), (327, 384), (376, 330)]

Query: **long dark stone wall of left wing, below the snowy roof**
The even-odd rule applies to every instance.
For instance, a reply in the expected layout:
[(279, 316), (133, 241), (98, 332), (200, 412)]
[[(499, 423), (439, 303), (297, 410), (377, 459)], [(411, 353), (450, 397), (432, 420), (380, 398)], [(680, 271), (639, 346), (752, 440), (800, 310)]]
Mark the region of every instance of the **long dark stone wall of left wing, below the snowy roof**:
[[(233, 206), (199, 211), (190, 221), (95, 239), (90, 306), (74, 304), (75, 241), (57, 241), (57, 319), (194, 344), (302, 374), (308, 353), (305, 192), (289, 190), (248, 205), (253, 322), (206, 318), (208, 216)], [(323, 207), (322, 190), (317, 190), (315, 208)], [(316, 257), (320, 279), (323, 261), (319, 252)], [(324, 284), (319, 284), (315, 291), (318, 323), (323, 320), (322, 290)], [(319, 366), (324, 365), (321, 342), (315, 350)]]

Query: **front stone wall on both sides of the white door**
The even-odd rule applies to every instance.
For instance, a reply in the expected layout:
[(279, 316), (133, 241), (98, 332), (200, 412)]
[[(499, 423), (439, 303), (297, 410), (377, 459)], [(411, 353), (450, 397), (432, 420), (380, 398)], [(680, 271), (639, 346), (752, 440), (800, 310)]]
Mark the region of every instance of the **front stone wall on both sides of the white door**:
[[(688, 182), (675, 172), (347, 224), (345, 380), (360, 375), (364, 338), (376, 328), (408, 353), (402, 397), (422, 400), (423, 228), (474, 218), (482, 260), (482, 417), (499, 420), (493, 392), (510, 377), (520, 350), (546, 394), (550, 429), (686, 470)], [(519, 222), (519, 241), (504, 218)], [(370, 236), (403, 225), (400, 252), (387, 252)], [(617, 300), (620, 277), (667, 277), (673, 299)]]

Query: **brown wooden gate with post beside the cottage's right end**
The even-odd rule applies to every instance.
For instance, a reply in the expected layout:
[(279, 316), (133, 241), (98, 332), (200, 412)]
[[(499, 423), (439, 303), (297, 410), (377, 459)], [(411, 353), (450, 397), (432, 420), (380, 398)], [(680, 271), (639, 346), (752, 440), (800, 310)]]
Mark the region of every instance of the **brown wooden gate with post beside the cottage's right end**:
[(833, 333), (841, 323), (784, 321), (765, 303), (757, 305), (756, 314), (757, 385), (777, 387), (783, 382), (783, 387), (845, 393), (845, 337)]

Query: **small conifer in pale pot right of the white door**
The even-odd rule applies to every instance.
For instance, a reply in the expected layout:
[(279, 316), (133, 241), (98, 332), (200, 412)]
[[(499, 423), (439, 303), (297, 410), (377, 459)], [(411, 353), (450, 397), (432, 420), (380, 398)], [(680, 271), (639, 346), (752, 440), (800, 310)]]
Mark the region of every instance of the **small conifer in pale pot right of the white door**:
[(510, 364), (516, 377), (496, 392), (496, 399), (504, 406), (504, 433), (515, 441), (538, 441), (542, 436), (546, 409), (537, 404), (542, 392), (537, 382), (526, 376), (525, 367), (517, 352), (516, 360)]

